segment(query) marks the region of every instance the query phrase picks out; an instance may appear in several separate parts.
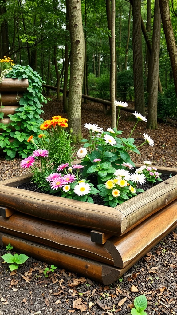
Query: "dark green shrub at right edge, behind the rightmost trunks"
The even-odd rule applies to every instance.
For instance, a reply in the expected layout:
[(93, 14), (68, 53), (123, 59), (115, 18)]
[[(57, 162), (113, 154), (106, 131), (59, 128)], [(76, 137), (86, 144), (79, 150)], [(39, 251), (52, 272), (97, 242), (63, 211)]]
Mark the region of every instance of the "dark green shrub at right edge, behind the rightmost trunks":
[(158, 94), (157, 117), (159, 118), (177, 118), (177, 98), (174, 85), (169, 85), (164, 93)]

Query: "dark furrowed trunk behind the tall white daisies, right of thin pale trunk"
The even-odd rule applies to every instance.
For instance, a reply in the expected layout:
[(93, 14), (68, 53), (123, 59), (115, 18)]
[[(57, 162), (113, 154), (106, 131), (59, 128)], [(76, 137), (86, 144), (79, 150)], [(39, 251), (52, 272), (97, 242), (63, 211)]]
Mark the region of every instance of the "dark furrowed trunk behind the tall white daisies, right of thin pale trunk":
[(141, 2), (133, 0), (133, 70), (134, 70), (134, 109), (145, 116), (143, 54), (141, 40)]

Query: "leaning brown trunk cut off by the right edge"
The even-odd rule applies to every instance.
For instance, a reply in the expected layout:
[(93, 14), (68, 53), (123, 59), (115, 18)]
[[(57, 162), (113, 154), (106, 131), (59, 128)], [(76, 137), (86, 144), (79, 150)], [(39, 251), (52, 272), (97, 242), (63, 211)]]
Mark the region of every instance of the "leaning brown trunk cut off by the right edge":
[(163, 24), (163, 31), (165, 34), (165, 39), (167, 43), (167, 49), (171, 61), (171, 67), (173, 71), (173, 78), (174, 78), (174, 86), (176, 91), (177, 97), (177, 47), (174, 38), (174, 31), (171, 23), (170, 18), (170, 11), (169, 11), (169, 1), (168, 0), (159, 0), (160, 5), (160, 13), (162, 18)]

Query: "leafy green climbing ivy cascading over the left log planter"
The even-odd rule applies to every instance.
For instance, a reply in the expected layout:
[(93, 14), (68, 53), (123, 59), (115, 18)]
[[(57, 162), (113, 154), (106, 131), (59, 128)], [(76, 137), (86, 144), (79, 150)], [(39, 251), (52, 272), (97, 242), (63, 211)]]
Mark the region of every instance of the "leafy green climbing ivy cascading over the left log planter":
[[(29, 87), (20, 98), (20, 107), (16, 109), (14, 115), (8, 115), (11, 123), (0, 123), (0, 128), (4, 130), (0, 134), (0, 147), (6, 153), (7, 160), (13, 159), (16, 154), (22, 158), (27, 157), (34, 150), (34, 145), (27, 142), (32, 134), (39, 134), (39, 126), (43, 123), (40, 114), (43, 113), (42, 102), (47, 103), (42, 95), (42, 78), (31, 69), (30, 66), (13, 66), (6, 78), (28, 79)], [(14, 131), (10, 128), (13, 126)], [(10, 140), (12, 139), (12, 140)]]

